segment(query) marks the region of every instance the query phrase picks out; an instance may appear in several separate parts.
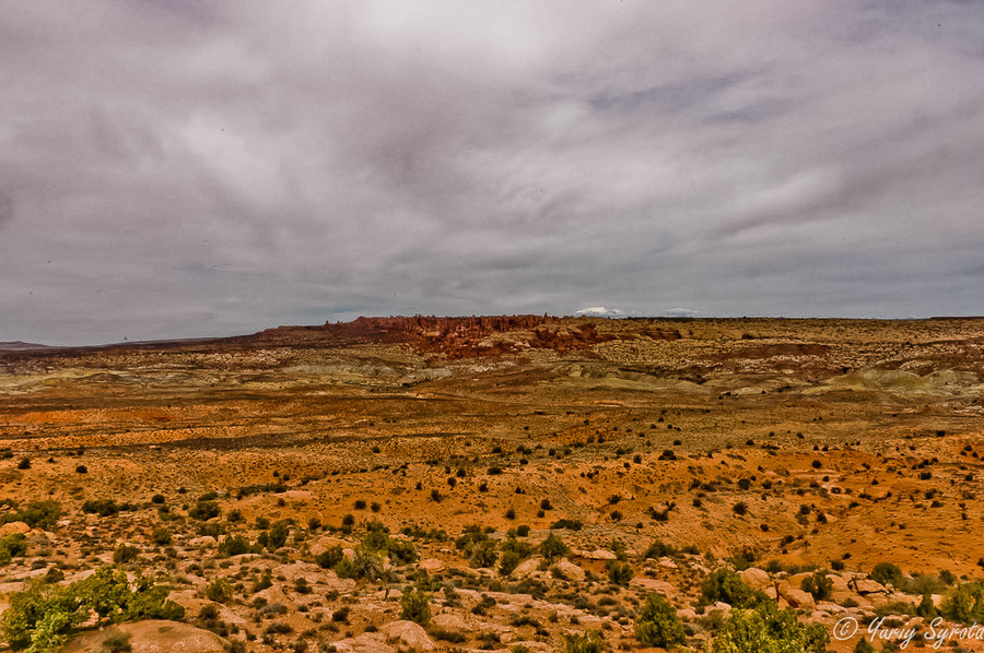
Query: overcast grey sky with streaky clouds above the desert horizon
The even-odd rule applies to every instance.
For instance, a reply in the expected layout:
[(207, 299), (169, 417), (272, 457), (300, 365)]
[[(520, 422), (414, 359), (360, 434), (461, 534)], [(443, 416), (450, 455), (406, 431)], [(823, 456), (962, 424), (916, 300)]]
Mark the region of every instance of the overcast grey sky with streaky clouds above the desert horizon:
[(984, 313), (980, 0), (0, 3), (0, 341)]

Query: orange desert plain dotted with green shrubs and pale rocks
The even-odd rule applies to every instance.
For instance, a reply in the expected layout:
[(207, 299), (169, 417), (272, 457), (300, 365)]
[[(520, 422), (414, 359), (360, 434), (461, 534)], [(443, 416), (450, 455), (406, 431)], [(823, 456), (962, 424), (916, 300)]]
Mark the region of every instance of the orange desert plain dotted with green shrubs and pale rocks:
[(4, 638), (745, 651), (741, 619), (795, 615), (798, 643), (761, 650), (904, 643), (871, 624), (982, 650), (930, 626), (984, 615), (982, 324), (417, 317), (10, 343)]

